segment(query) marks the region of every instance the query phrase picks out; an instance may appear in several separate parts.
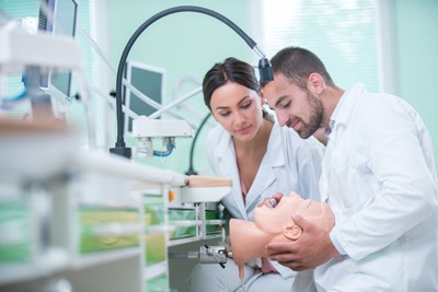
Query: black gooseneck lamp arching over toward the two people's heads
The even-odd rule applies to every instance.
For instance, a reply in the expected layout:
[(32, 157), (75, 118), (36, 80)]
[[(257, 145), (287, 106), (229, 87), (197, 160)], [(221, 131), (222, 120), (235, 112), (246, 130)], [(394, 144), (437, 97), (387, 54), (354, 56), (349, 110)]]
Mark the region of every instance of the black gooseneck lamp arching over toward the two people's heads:
[(146, 22), (143, 22), (137, 31), (132, 34), (129, 38), (126, 47), (122, 54), (120, 61), (118, 63), (117, 69), (117, 77), (116, 77), (116, 114), (117, 114), (117, 141), (115, 148), (110, 149), (110, 152), (113, 154), (122, 155), (124, 157), (130, 159), (131, 156), (131, 149), (127, 148), (124, 140), (124, 114), (123, 114), (123, 98), (122, 98), (122, 86), (123, 86), (123, 75), (126, 66), (126, 60), (128, 58), (129, 51), (132, 48), (134, 44), (136, 43), (137, 38), (141, 35), (141, 33), (148, 28), (152, 23), (155, 21), (178, 12), (197, 12), (210, 15), (224, 24), (227, 24), (231, 30), (233, 30), (238, 35), (240, 35), (243, 40), (261, 57), (258, 61), (258, 72), (261, 83), (265, 83), (268, 81), (274, 80), (273, 71), (270, 68), (269, 60), (266, 58), (266, 55), (257, 47), (257, 44), (247, 36), (238, 25), (235, 25), (232, 21), (227, 19), (226, 16), (217, 13), (216, 11), (201, 8), (201, 7), (193, 7), (193, 5), (182, 5), (182, 7), (174, 7), (166, 10), (163, 10)]

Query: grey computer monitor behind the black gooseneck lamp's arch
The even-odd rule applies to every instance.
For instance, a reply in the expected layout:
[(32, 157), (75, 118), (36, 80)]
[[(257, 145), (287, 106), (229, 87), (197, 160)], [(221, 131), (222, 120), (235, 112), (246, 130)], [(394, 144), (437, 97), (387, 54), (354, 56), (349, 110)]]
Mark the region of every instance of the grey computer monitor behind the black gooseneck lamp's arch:
[[(165, 70), (149, 66), (138, 61), (127, 61), (126, 80), (132, 84), (138, 91), (153, 100), (158, 104), (162, 104), (165, 89)], [(149, 116), (157, 108), (143, 102), (126, 87), (125, 105), (137, 115)], [(132, 118), (125, 114), (125, 133), (132, 132)]]

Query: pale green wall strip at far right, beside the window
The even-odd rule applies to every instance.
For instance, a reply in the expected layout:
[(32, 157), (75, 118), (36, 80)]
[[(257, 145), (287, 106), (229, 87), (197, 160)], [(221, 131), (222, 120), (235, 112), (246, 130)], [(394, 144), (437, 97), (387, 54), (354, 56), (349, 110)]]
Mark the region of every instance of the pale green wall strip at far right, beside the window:
[(438, 1), (396, 0), (394, 11), (399, 94), (422, 115), (438, 165)]

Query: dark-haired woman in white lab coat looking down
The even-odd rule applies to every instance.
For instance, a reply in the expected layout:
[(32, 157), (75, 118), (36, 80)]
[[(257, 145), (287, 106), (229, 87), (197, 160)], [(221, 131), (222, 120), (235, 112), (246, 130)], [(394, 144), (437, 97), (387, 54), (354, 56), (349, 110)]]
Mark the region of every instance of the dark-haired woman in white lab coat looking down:
[[(234, 58), (216, 63), (204, 78), (203, 91), (206, 105), (220, 124), (207, 138), (207, 157), (216, 175), (233, 183), (221, 201), (224, 219), (252, 221), (257, 205), (275, 192), (296, 191), (319, 200), (323, 145), (274, 122), (263, 108), (263, 93), (251, 65)], [(228, 227), (226, 231), (228, 235)], [(293, 271), (267, 259), (244, 269), (246, 292), (289, 291), (293, 282)], [(232, 260), (226, 269), (197, 265), (189, 282), (192, 292), (241, 291)]]

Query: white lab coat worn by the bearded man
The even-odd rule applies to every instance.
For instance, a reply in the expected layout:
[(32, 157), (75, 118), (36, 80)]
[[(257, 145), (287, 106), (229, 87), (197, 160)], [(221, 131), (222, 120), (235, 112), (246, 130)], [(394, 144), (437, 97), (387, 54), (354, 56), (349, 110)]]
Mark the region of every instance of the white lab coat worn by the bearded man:
[(320, 190), (346, 255), (315, 269), (318, 290), (438, 291), (437, 176), (419, 115), (356, 84), (332, 119)]

